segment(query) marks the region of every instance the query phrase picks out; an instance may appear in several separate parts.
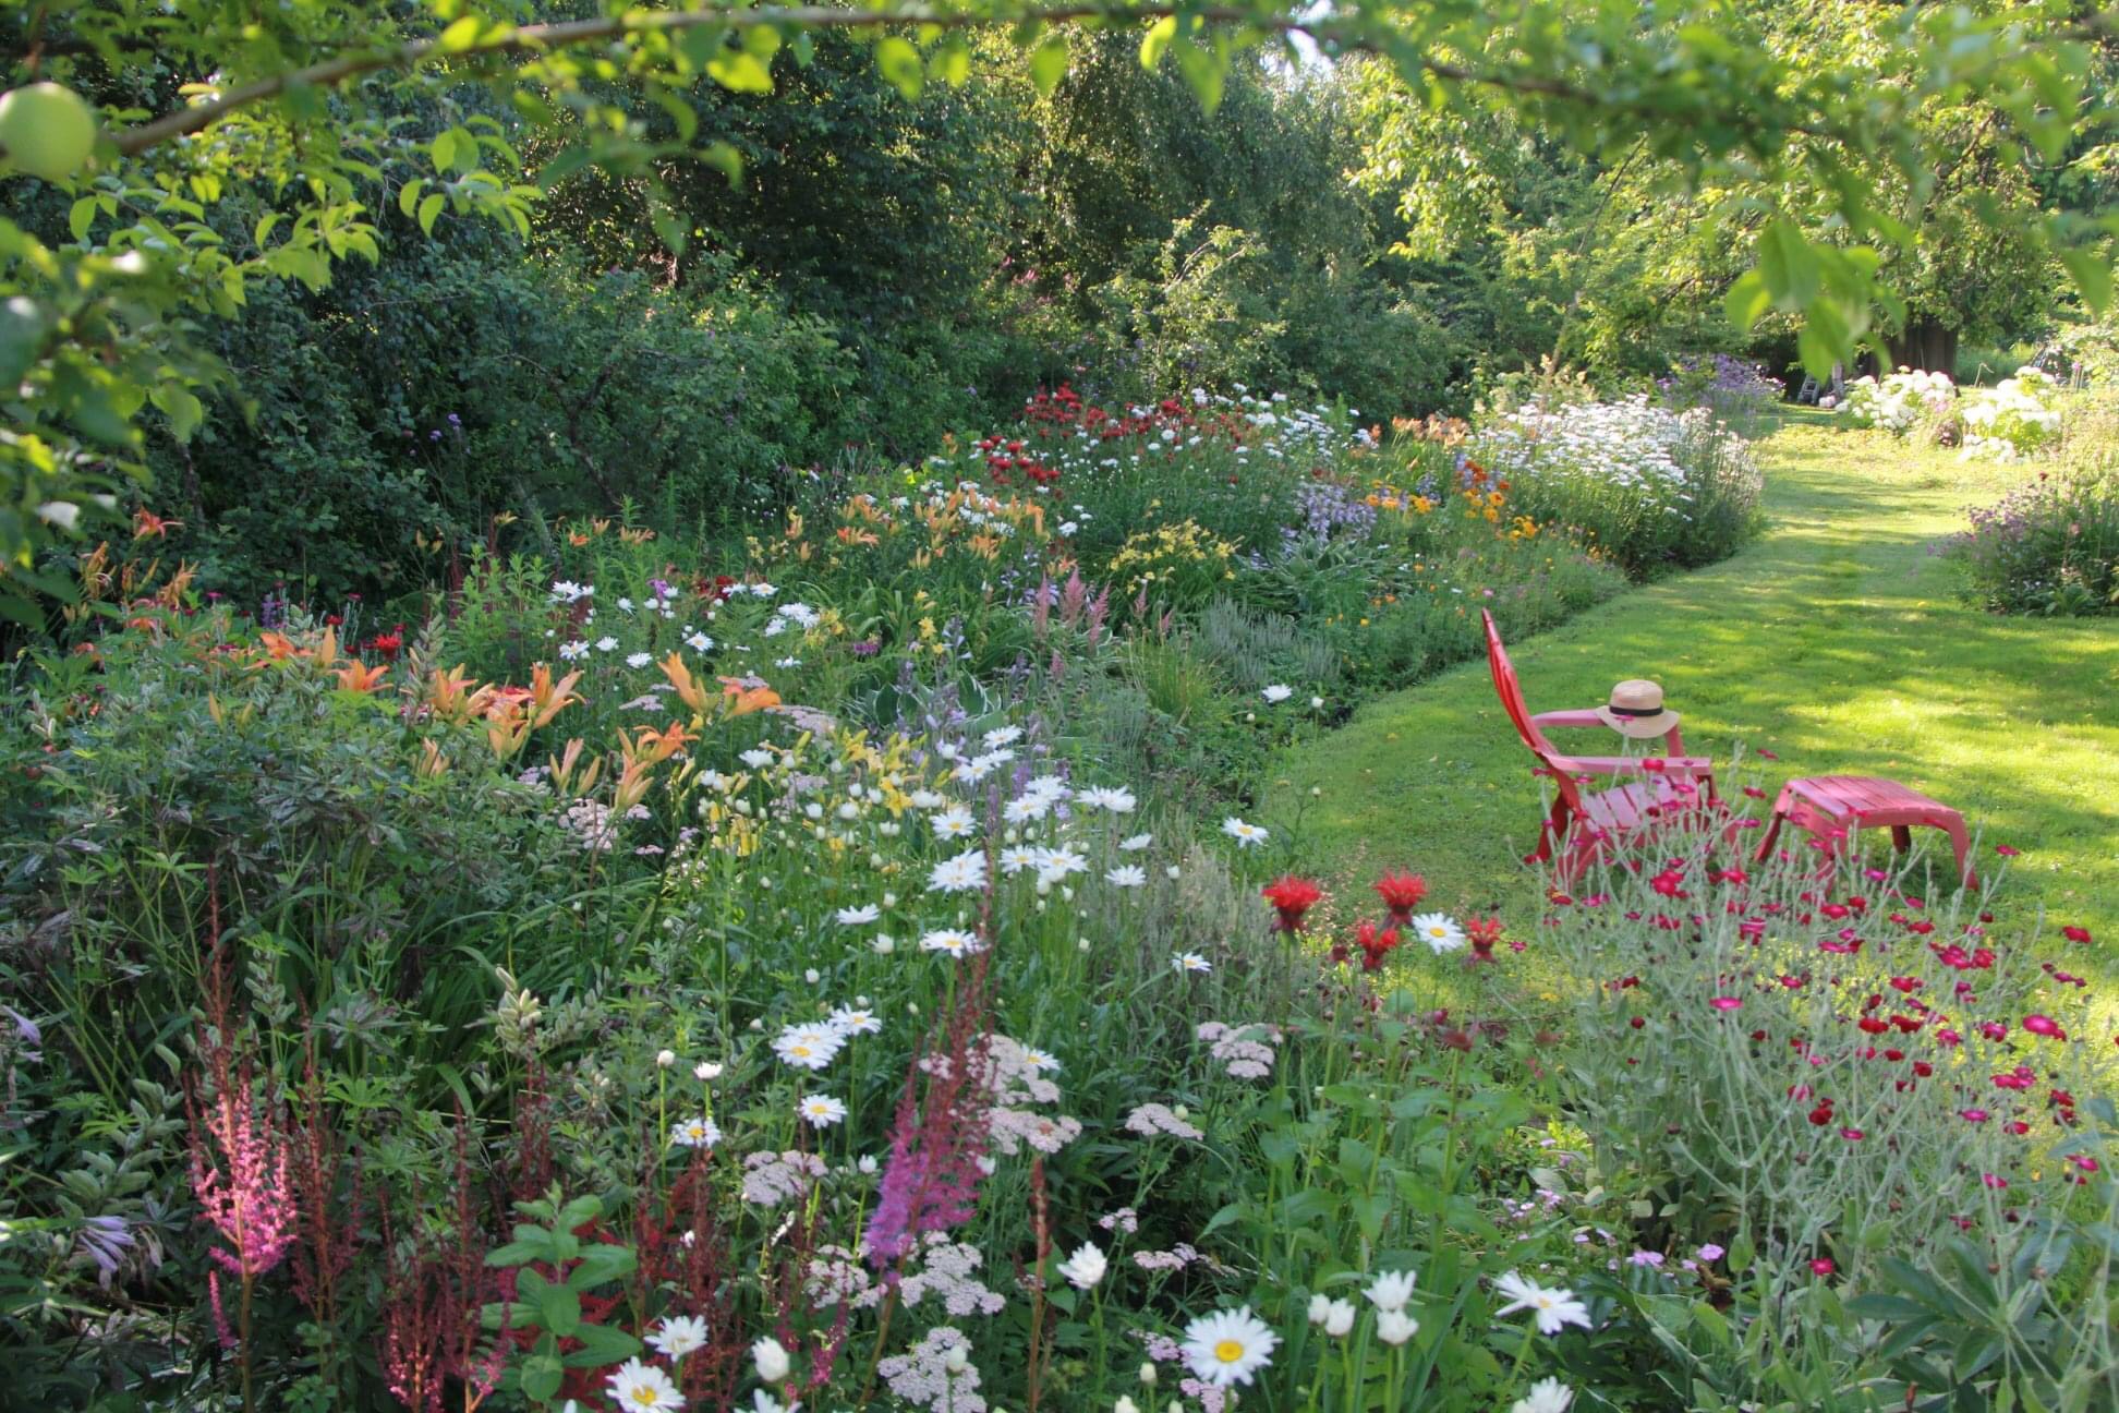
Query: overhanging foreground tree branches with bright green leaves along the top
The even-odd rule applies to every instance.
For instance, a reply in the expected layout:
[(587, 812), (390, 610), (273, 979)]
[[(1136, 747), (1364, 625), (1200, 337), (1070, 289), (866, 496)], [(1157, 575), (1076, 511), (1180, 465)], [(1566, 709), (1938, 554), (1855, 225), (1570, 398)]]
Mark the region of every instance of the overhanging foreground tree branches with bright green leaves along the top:
[[(38, 549), (138, 475), (146, 430), (197, 432), (201, 390), (225, 379), (201, 320), (244, 307), (261, 280), (322, 288), (337, 263), (377, 258), (369, 193), (392, 191), (422, 229), (485, 218), (528, 235), (534, 203), (593, 167), (640, 193), (682, 258), (697, 225), (672, 184), (701, 167), (740, 182), (746, 159), (729, 110), (697, 87), (799, 89), (822, 34), (867, 47), (905, 97), (964, 85), (996, 53), (979, 36), (1021, 51), (1047, 97), (1076, 55), (1121, 42), (1176, 70), (1206, 112), (1246, 51), (1373, 55), (1392, 93), (1377, 172), (1432, 186), (1449, 159), (1432, 133), (1500, 136), (1738, 210), (1727, 229), (1748, 237), (1748, 269), (1727, 314), (1799, 322), (1814, 369), (1903, 328), (1909, 299), (1956, 278), (1922, 258), (1924, 222), (1960, 261), (2005, 242), (2064, 265), (2091, 307), (2111, 294), (2111, 218), (2043, 199), (2062, 165), (2102, 172), (2108, 119), (2096, 74), (2111, 21), (2058, 0), (32, 0), (0, 19), (17, 91), (13, 121), (0, 112), (15, 174), (0, 218), (0, 610), (59, 587), (40, 580)], [(85, 157), (74, 121), (53, 117), (64, 97), (23, 97), (42, 83), (91, 102)], [(447, 121), (407, 119), (415, 108)], [(1466, 182), (1454, 210), (1415, 199), (1415, 233), (1504, 184)]]

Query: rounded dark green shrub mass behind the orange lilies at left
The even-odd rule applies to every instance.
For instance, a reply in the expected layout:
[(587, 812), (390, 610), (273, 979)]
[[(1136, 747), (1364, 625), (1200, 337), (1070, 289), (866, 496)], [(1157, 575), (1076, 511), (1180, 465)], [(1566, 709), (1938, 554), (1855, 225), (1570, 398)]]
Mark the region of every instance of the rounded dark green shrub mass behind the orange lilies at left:
[(574, 280), (413, 246), (324, 294), (263, 290), (222, 330), (235, 400), (165, 447), (176, 553), (254, 602), (278, 580), (335, 602), (462, 572), (496, 517), (549, 544), (557, 517), (646, 506), (729, 532), (826, 458), (856, 366), (822, 320), (701, 271)]

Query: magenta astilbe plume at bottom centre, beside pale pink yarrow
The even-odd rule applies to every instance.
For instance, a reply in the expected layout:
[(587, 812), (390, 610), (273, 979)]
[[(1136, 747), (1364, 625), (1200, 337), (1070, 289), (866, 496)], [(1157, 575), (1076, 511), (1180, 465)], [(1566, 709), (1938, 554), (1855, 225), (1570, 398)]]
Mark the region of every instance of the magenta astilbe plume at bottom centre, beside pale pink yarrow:
[(934, 1042), (905, 1072), (890, 1157), (867, 1231), (869, 1263), (877, 1269), (903, 1260), (922, 1235), (968, 1222), (977, 1210), (990, 1112), (983, 1072), (985, 962), (981, 951), (964, 966)]

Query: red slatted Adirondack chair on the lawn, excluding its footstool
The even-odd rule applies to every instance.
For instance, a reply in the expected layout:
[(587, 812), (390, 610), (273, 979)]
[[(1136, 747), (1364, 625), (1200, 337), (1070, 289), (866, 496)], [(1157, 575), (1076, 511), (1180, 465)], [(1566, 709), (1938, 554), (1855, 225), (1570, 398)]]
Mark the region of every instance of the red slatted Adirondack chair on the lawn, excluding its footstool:
[[(1494, 691), (1500, 705), (1515, 722), (1524, 746), (1538, 758), (1534, 775), (1553, 782), (1555, 799), (1551, 816), (1538, 826), (1538, 849), (1524, 862), (1551, 862), (1560, 852), (1555, 871), (1560, 883), (1572, 883), (1596, 860), (1608, 843), (1619, 843), (1630, 835), (1657, 828), (1670, 816), (1687, 809), (1714, 807), (1714, 767), (1706, 756), (1687, 756), (1685, 739), (1672, 727), (1663, 737), (1668, 754), (1661, 756), (1566, 756), (1545, 737), (1547, 727), (1598, 727), (1608, 731), (1596, 712), (1541, 712), (1530, 714), (1524, 705), (1524, 688), (1515, 682), (1515, 667), (1509, 650), (1500, 646), (1500, 629), (1494, 614), (1485, 619), (1485, 659), (1494, 669)], [(1634, 775), (1632, 784), (1587, 794), (1581, 782), (1596, 775)]]

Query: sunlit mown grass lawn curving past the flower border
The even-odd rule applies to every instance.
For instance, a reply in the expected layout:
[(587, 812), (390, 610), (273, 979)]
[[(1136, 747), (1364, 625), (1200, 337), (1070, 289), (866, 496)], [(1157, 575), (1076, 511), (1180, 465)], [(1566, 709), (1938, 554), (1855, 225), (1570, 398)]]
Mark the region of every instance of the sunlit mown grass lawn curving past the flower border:
[[(1994, 843), (2022, 849), (1998, 922), (2043, 907), (2085, 924), (2100, 970), (2119, 972), (2119, 623), (1977, 612), (1930, 549), (2026, 472), (1810, 419), (1759, 455), (1767, 534), (1511, 644), (1530, 710), (1596, 705), (1644, 676), (1685, 714), (1693, 754), (1778, 754), (1746, 761), (1767, 794), (1791, 775), (1903, 780), (1986, 833), (1981, 871)], [(1284, 777), (1318, 792), (1299, 852), (1335, 881), (1409, 864), (1441, 907), (1536, 909), (1515, 860), (1536, 841), (1538, 782), (1483, 659), (1369, 703), (1290, 754)]]

